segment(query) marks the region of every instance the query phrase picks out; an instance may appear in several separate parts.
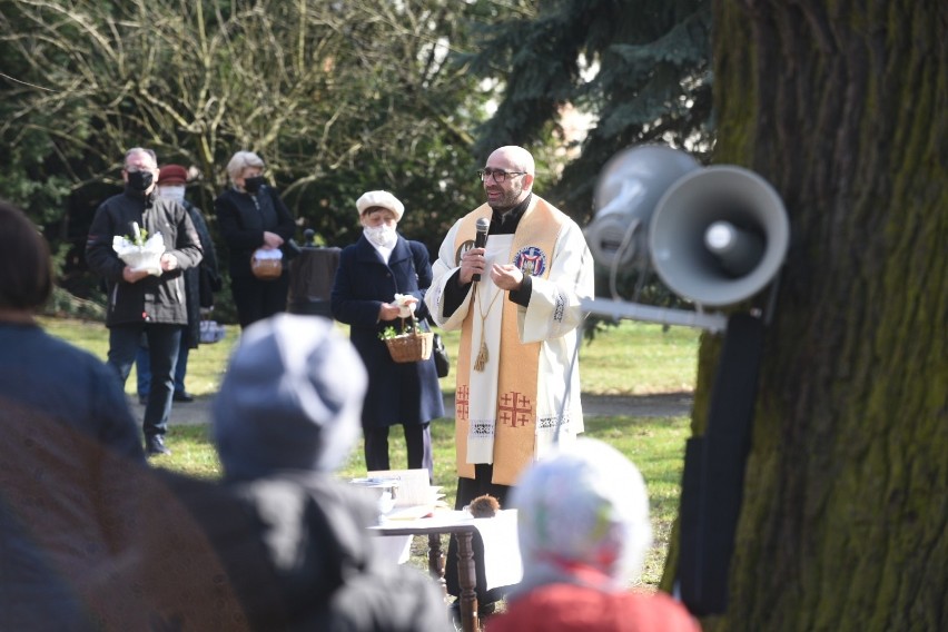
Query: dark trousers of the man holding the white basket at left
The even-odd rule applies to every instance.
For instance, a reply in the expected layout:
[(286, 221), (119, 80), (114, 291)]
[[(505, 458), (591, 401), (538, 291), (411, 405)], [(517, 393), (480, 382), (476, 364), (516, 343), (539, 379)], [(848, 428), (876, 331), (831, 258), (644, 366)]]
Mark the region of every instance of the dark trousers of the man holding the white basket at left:
[(184, 325), (117, 325), (109, 328), (108, 364), (115, 368), (125, 389), (135, 356), (141, 346), (141, 335), (148, 340), (148, 361), (151, 366), (151, 389), (145, 407), (142, 432), (145, 438), (168, 432), (171, 416), (171, 396), (175, 394), (175, 366), (181, 344)]

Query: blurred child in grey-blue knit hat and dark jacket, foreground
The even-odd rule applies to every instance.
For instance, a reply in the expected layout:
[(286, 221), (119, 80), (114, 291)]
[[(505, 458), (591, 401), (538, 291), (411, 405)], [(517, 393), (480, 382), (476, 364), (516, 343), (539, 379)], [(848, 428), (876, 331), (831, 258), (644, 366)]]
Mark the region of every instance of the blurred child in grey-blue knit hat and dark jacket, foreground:
[(129, 564), (151, 629), (448, 629), (434, 581), (377, 556), (376, 501), (333, 475), (366, 392), (333, 327), (293, 314), (248, 327), (214, 401), (223, 481), (156, 471)]

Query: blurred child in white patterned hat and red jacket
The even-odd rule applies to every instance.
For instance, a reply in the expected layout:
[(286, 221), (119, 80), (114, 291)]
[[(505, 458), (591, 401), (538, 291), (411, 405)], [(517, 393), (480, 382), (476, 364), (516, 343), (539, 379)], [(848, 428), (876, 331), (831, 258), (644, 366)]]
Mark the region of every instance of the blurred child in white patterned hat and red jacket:
[(664, 593), (630, 590), (652, 541), (639, 470), (612, 446), (580, 438), (524, 472), (517, 510), (523, 580), (491, 632), (697, 632)]

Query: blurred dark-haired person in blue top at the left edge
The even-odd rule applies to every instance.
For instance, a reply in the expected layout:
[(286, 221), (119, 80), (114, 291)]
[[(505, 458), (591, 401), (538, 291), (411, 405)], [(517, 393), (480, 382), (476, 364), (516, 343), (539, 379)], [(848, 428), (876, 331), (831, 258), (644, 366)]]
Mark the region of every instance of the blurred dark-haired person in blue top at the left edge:
[(0, 628), (99, 630), (90, 584), (130, 544), (145, 455), (115, 373), (34, 316), (49, 247), (0, 201)]

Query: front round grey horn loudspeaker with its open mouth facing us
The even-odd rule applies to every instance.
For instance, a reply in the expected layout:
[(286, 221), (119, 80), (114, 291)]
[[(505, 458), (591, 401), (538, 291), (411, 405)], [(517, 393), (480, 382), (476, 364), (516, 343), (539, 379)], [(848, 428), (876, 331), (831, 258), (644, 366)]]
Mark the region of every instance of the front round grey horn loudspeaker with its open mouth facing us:
[(789, 240), (780, 196), (753, 171), (734, 166), (677, 180), (649, 228), (659, 278), (682, 298), (711, 307), (740, 303), (770, 283)]

